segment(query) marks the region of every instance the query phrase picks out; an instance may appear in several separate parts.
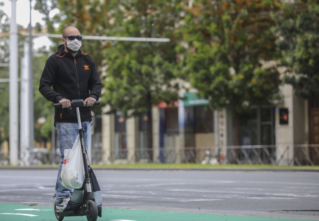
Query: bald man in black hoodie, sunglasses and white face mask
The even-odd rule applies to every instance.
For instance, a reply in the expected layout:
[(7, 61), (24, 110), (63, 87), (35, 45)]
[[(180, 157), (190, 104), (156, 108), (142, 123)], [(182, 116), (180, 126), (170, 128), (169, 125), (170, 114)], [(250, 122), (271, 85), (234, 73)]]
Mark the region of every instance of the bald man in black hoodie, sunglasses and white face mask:
[(63, 30), (63, 45), (59, 45), (57, 52), (48, 58), (39, 87), (39, 91), (45, 98), (62, 105), (62, 108), (56, 108), (54, 116), (61, 152), (55, 203), (58, 205), (57, 210), (62, 211), (73, 192), (73, 189), (66, 189), (62, 186), (61, 168), (64, 150), (71, 149), (78, 136), (76, 109), (70, 108), (70, 101), (84, 100), (85, 107), (80, 108), (80, 117), (87, 148), (91, 133), (90, 121), (92, 120), (90, 106), (99, 99), (101, 93), (101, 83), (95, 62), (88, 54), (79, 50), (82, 45), (81, 40), (82, 36), (77, 28), (68, 26)]

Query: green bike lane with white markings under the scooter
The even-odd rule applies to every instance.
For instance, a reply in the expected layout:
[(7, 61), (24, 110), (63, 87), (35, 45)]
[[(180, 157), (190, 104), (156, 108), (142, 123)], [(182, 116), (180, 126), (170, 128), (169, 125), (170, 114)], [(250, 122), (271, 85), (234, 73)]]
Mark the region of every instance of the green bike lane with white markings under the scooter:
[[(53, 206), (0, 203), (0, 221), (55, 221)], [(85, 221), (86, 217), (64, 217), (66, 221)], [(154, 210), (102, 209), (98, 221), (310, 221), (313, 219), (221, 215)]]

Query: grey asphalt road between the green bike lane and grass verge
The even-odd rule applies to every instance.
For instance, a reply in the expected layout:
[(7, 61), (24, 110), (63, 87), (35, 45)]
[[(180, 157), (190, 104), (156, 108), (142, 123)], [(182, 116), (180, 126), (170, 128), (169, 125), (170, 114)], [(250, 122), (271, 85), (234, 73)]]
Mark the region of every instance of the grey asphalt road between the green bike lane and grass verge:
[[(103, 208), (312, 216), (319, 173), (95, 170)], [(52, 205), (57, 171), (0, 169), (0, 202)]]

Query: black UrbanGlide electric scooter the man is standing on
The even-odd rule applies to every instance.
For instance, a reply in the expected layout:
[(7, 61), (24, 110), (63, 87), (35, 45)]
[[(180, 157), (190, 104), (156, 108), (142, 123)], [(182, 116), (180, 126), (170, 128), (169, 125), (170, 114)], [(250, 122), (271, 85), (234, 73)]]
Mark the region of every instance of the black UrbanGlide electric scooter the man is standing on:
[[(62, 107), (60, 103), (53, 104), (55, 108)], [(96, 101), (94, 105), (100, 105), (99, 101)], [(101, 216), (101, 208), (98, 211), (98, 206), (96, 200), (93, 196), (93, 187), (90, 177), (90, 168), (86, 161), (87, 152), (83, 142), (83, 129), (80, 119), (80, 107), (83, 107), (83, 99), (80, 100), (71, 100), (71, 107), (76, 108), (77, 118), (78, 118), (78, 127), (79, 127), (79, 137), (82, 149), (82, 158), (84, 164), (85, 180), (81, 189), (74, 189), (70, 201), (62, 212), (56, 210), (56, 204), (54, 204), (54, 213), (57, 220), (62, 221), (64, 217), (69, 216), (85, 216), (88, 221), (96, 221), (98, 215)], [(101, 202), (100, 202), (101, 203)]]

